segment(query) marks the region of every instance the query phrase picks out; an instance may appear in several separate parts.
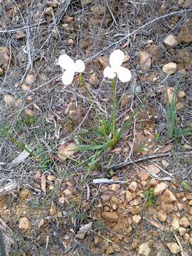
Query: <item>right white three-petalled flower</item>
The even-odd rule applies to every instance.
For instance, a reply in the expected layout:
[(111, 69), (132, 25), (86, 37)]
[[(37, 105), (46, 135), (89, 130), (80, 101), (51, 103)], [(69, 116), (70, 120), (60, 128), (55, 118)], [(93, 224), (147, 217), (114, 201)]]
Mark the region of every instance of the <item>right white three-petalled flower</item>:
[(107, 66), (103, 71), (105, 78), (119, 78), (121, 82), (129, 82), (132, 78), (132, 73), (128, 68), (122, 66), (124, 53), (122, 50), (114, 50), (110, 55), (110, 66)]

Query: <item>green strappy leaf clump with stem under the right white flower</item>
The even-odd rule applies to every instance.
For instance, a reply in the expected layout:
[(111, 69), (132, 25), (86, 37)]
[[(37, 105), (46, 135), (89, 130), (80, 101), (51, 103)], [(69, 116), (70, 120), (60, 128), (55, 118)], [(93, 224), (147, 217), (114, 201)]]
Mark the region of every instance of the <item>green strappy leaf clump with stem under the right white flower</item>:
[[(82, 78), (81, 78), (82, 79)], [(84, 83), (83, 83), (84, 85)], [(92, 171), (100, 158), (114, 148), (122, 139), (125, 132), (129, 131), (134, 122), (134, 117), (142, 108), (143, 103), (130, 115), (129, 120), (124, 122), (121, 127), (116, 124), (117, 102), (116, 102), (116, 82), (111, 80), (112, 85), (112, 114), (110, 117), (103, 117), (97, 113), (97, 125), (90, 127), (79, 134), (79, 141), (86, 144), (77, 146), (75, 149), (82, 152), (91, 151), (92, 155), (87, 158), (87, 169)]]

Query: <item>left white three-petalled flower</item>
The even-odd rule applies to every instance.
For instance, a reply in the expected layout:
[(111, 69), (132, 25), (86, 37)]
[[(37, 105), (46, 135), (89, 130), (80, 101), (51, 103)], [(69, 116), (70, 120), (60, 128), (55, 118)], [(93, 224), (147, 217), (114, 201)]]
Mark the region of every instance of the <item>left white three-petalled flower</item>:
[(62, 75), (64, 85), (70, 85), (73, 82), (75, 72), (82, 73), (85, 70), (85, 64), (82, 60), (74, 61), (67, 54), (59, 56), (58, 64), (64, 70)]

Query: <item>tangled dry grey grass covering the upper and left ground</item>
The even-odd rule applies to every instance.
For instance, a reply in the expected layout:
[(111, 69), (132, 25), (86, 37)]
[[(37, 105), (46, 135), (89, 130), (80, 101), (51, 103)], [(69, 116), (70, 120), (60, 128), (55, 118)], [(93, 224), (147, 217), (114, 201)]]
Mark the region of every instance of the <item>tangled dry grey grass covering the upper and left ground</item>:
[[(191, 11), (182, 9), (178, 4), (174, 4), (174, 1), (167, 1), (164, 6), (162, 6), (162, 1), (152, 0), (94, 1), (105, 6), (105, 15), (102, 16), (102, 21), (95, 24), (97, 16), (90, 11), (90, 6), (93, 6), (93, 4), (82, 8), (80, 1), (68, 0), (58, 1), (63, 2), (63, 4), (50, 8), (51, 4), (48, 4), (48, 2), (51, 1), (33, 0), (24, 2), (11, 0), (1, 3), (0, 46), (9, 48), (11, 63), (9, 63), (5, 75), (0, 78), (0, 127), (1, 131), (6, 129), (11, 137), (19, 142), (23, 142), (23, 144), (27, 144), (33, 149), (38, 148), (40, 156), (51, 159), (48, 168), (42, 170), (43, 174), (54, 174), (59, 179), (58, 187), (54, 193), (50, 193), (50, 196), (48, 196), (50, 202), (54, 200), (55, 194), (58, 193), (61, 182), (68, 180), (71, 176), (75, 176), (77, 179), (76, 186), (85, 190), (85, 184), (82, 182), (86, 173), (85, 166), (75, 166), (73, 161), (66, 161), (61, 164), (55, 152), (60, 143), (73, 139), (82, 127), (86, 127), (88, 122), (93, 122), (93, 124), (97, 122), (92, 111), (92, 103), (83, 94), (78, 78), (75, 78), (74, 84), (68, 87), (63, 87), (60, 82), (61, 70), (56, 65), (60, 53), (65, 51), (73, 58), (81, 58), (86, 61), (87, 70), (84, 78), (89, 86), (88, 89), (95, 99), (99, 112), (110, 114), (112, 110), (109, 96), (111, 91), (109, 85), (102, 80), (102, 68), (97, 63), (97, 57), (102, 54), (109, 55), (114, 48), (123, 48), (124, 52), (129, 55), (129, 68), (134, 74), (134, 79), (130, 85), (118, 84), (117, 95), (120, 98), (124, 93), (128, 93), (132, 94), (133, 97), (130, 104), (122, 109), (119, 108), (117, 120), (121, 123), (127, 113), (132, 112), (144, 100), (146, 94), (154, 91), (154, 95), (149, 98), (145, 110), (156, 111), (156, 129), (158, 129), (160, 124), (166, 124), (165, 108), (159, 88), (175, 85), (179, 76), (177, 73), (171, 75), (171, 77), (166, 77), (161, 72), (162, 65), (177, 61), (176, 51), (172, 53), (169, 48), (164, 46), (163, 41), (169, 33), (178, 33), (181, 25), (185, 24), (186, 19), (191, 15)], [(46, 14), (48, 8), (50, 8), (50, 15)], [(11, 14), (11, 10), (13, 10), (13, 14)], [(68, 16), (73, 16), (75, 20), (66, 21)], [(110, 21), (108, 22), (108, 20)], [(66, 23), (68, 24), (67, 28), (65, 28), (65, 25), (63, 26)], [(24, 38), (16, 39), (16, 34), (21, 31), (24, 33)], [(73, 44), (68, 43), (69, 39), (73, 39)], [(159, 47), (161, 58), (152, 65), (150, 70), (143, 72), (137, 65), (137, 53), (144, 50), (149, 40), (152, 40)], [(87, 48), (82, 46), (85, 41), (88, 42)], [(185, 46), (181, 45), (181, 48), (185, 48)], [(89, 82), (90, 75), (93, 72), (97, 73), (97, 80)], [(31, 85), (30, 90), (23, 92), (21, 85), (23, 85), (28, 73), (35, 75), (35, 82)], [(145, 79), (147, 75), (154, 73), (159, 74), (159, 79), (154, 82)], [(187, 92), (184, 111), (179, 112), (179, 117), (181, 117), (180, 127), (191, 124), (191, 80), (191, 75), (186, 74), (179, 85), (180, 90)], [(19, 107), (4, 105), (4, 95), (6, 94), (21, 99), (21, 105)], [(33, 96), (33, 100), (28, 100), (29, 95)], [(74, 119), (72, 127), (65, 115), (65, 109), (71, 101), (74, 102), (77, 109), (83, 110), (82, 117)], [(24, 110), (28, 108), (36, 112), (36, 121), (31, 125), (26, 124), (26, 117), (23, 114)], [(51, 118), (48, 119), (50, 115)], [(63, 129), (65, 124), (70, 127), (67, 133)], [(132, 159), (133, 156), (137, 156), (134, 148), (138, 125), (139, 120), (135, 119), (133, 132), (125, 134), (129, 138), (131, 153), (125, 157), (124, 152), (121, 151), (121, 154), (114, 157), (114, 164), (121, 163), (127, 157)], [(4, 133), (0, 135), (0, 191), (1, 187), (9, 182), (17, 184), (16, 189), (14, 189), (17, 192), (24, 185), (36, 194), (36, 200), (38, 201), (41, 188), (36, 186), (33, 175), (42, 167), (42, 163), (38, 163), (36, 159), (30, 156), (21, 164), (9, 168), (8, 163), (15, 159), (22, 149), (11, 142), (10, 139), (4, 137)], [(165, 136), (164, 131), (162, 131), (162, 136)], [(189, 138), (189, 144), (190, 140)], [(123, 142), (124, 145), (126, 143)], [(119, 146), (122, 146), (122, 144)], [(176, 145), (174, 151), (181, 151), (181, 147)], [(102, 168), (107, 166), (110, 156), (111, 154), (102, 157)], [(77, 160), (81, 161), (84, 157), (80, 154)], [(174, 157), (176, 157), (175, 154)], [(175, 170), (174, 172), (178, 178), (188, 180), (190, 173), (188, 163), (174, 159), (176, 161), (172, 161), (170, 169)], [(67, 214), (71, 211), (73, 211), (73, 208), (66, 210)], [(16, 223), (16, 220), (14, 220), (14, 223)], [(53, 230), (57, 229), (55, 223), (52, 224)], [(79, 225), (80, 223), (77, 224), (77, 229)], [(22, 235), (13, 225), (11, 228), (14, 233), (14, 242), (18, 237), (18, 245), (21, 246), (22, 244), (21, 250), (29, 250), (29, 244), (31, 246), (32, 240), (27, 238), (25, 242), (22, 242), (24, 239)], [(48, 255), (48, 252), (41, 245), (38, 245), (35, 234), (36, 231), (33, 230), (31, 238), (34, 238), (34, 253), (38, 255), (38, 251), (42, 250), (42, 253)], [(59, 240), (60, 236), (63, 235), (62, 228), (57, 230), (55, 236), (48, 234), (53, 239), (54, 248), (66, 250)], [(73, 255), (80, 255), (80, 252), (82, 252), (82, 255), (88, 254), (86, 247), (80, 245), (77, 241), (71, 242), (71, 248), (73, 247), (77, 248)], [(53, 251), (50, 252), (50, 255), (55, 255)]]

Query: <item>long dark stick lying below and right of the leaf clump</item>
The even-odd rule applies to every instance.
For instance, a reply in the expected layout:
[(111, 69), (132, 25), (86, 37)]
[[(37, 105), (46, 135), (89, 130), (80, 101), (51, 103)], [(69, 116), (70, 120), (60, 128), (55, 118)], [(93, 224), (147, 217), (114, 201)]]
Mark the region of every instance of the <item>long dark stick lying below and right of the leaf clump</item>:
[[(178, 156), (182, 156), (183, 154), (186, 155), (190, 155), (192, 154), (192, 151), (188, 151), (188, 152), (178, 152), (177, 155)], [(139, 159), (133, 159), (131, 161), (125, 161), (124, 163), (120, 163), (120, 164), (115, 164), (114, 166), (110, 167), (110, 169), (112, 171), (117, 171), (118, 169), (122, 169), (125, 166), (128, 166), (130, 164), (135, 164), (135, 163), (139, 163), (140, 161), (145, 161), (145, 160), (149, 160), (149, 159), (156, 159), (156, 158), (160, 158), (160, 157), (164, 157), (164, 156), (171, 156), (171, 152), (167, 152), (167, 153), (162, 153), (162, 154), (151, 154), (148, 156), (143, 156)], [(107, 171), (107, 169), (105, 169), (105, 171)]]

